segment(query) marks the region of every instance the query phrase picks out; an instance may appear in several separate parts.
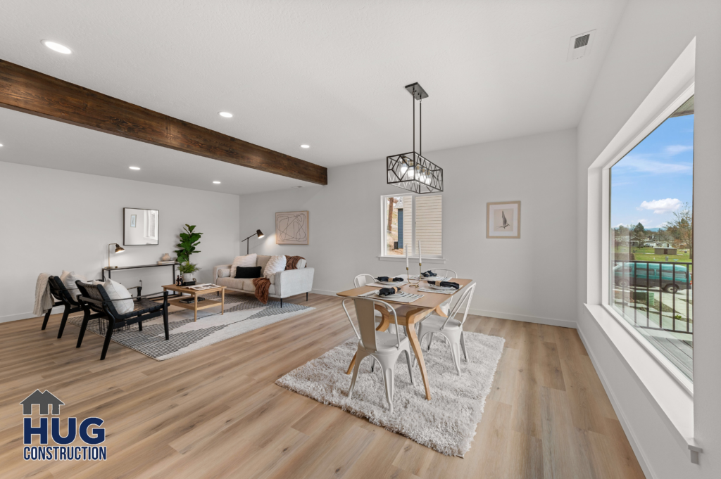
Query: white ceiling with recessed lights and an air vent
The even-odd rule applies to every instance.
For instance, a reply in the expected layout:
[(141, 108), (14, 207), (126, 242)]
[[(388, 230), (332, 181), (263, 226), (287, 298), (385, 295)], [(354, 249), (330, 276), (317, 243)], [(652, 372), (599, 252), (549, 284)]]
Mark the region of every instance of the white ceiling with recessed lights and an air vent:
[[(625, 4), (3, 0), (0, 58), (296, 158), (338, 166), (410, 150), (411, 97), (403, 86), (414, 81), (430, 94), (424, 101), (424, 151), (575, 127)], [(567, 62), (569, 38), (594, 29), (590, 55)], [(40, 40), (74, 53), (55, 53)], [(219, 111), (235, 116), (226, 120)], [(14, 112), (0, 113), (0, 143), (10, 146), (13, 136), (6, 132), (13, 125), (7, 122)], [(52, 123), (29, 120), (36, 135), (19, 138), (37, 143), (37, 134), (58, 134)], [(112, 156), (125, 165), (143, 149), (137, 146), (142, 143), (106, 136), (118, 148), (112, 155), (103, 152), (101, 139), (92, 146), (68, 140), (68, 151), (52, 164), (74, 169), (63, 165), (95, 165)], [(301, 143), (311, 148), (303, 150)], [(183, 157), (144, 147), (149, 162), (171, 166)], [(37, 148), (22, 151), (43, 153)], [(11, 161), (3, 150), (0, 161)], [(190, 159), (203, 169), (221, 163), (185, 157), (187, 171), (184, 166), (177, 174), (178, 182), (205, 181), (194, 179), (201, 170)], [(31, 159), (12, 161), (40, 161)], [(230, 174), (239, 169), (227, 167)], [(105, 171), (98, 174), (125, 177), (112, 173), (112, 165), (98, 168)], [(242, 171), (250, 180), (239, 184), (257, 184), (259, 172)], [(265, 187), (292, 186), (286, 182), (301, 183), (269, 179)]]

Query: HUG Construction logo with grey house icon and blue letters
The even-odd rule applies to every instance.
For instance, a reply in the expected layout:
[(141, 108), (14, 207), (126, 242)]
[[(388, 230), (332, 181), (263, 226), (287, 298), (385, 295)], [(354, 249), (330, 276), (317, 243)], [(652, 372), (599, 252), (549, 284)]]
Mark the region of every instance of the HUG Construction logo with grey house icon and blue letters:
[[(31, 416), (32, 406), (40, 406), (40, 416), (60, 416), (60, 406), (65, 406), (63, 401), (56, 398), (45, 390), (35, 393), (20, 401), (22, 404), (22, 415)], [(48, 425), (47, 417), (40, 417), (40, 425), (32, 426), (32, 418), (22, 418), (22, 458), (26, 461), (104, 461), (107, 460), (107, 447), (99, 446), (105, 442), (105, 428), (92, 427), (102, 426), (104, 421), (101, 418), (84, 418), (78, 427), (77, 418), (68, 418), (67, 434), (61, 436), (60, 418), (50, 417)], [(88, 431), (90, 429), (90, 431)], [(40, 446), (32, 445), (32, 437), (40, 437)], [(80, 437), (86, 446), (72, 446), (76, 437)], [(48, 439), (53, 439), (53, 445), (48, 444)]]

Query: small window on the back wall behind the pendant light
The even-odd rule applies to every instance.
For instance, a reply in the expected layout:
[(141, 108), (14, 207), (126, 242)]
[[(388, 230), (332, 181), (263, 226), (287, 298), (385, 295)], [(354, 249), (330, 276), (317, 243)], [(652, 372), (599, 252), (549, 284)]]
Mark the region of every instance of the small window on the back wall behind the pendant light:
[(442, 255), (443, 198), (432, 196), (384, 196), (383, 208), (383, 256), (418, 254), (418, 242), (423, 257), (440, 258)]

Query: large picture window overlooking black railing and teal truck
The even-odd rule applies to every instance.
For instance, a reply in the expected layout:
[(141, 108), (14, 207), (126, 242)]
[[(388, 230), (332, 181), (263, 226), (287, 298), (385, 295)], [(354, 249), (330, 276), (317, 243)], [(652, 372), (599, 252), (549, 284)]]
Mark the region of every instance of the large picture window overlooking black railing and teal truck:
[(611, 167), (609, 303), (693, 380), (694, 97)]

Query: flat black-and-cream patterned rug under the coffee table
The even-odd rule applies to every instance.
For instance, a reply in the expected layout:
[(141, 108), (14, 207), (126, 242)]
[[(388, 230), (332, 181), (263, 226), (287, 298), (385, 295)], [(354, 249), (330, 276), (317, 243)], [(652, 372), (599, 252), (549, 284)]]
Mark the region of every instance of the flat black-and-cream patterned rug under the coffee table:
[[(220, 297), (216, 297), (215, 293), (203, 297), (205, 301), (220, 303)], [(138, 331), (137, 324), (115, 330), (112, 341), (163, 361), (314, 309), (293, 303), (283, 303), (283, 308), (280, 308), (277, 301), (263, 304), (255, 297), (226, 294), (223, 315), (220, 308), (208, 308), (198, 311), (198, 321), (193, 321), (191, 310), (169, 313), (168, 341), (165, 341), (162, 316), (143, 321), (143, 331)], [(68, 318), (68, 323), (78, 327), (82, 321), (82, 315)], [(105, 336), (105, 326), (107, 321), (92, 320), (87, 331)]]

